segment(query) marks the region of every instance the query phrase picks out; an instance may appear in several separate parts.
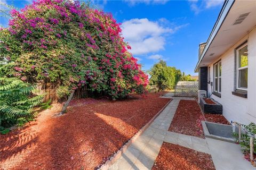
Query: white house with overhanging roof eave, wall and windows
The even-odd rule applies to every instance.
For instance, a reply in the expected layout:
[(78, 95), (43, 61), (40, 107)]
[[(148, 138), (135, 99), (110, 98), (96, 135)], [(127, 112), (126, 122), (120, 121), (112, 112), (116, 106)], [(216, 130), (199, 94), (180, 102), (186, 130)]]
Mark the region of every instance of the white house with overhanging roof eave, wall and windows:
[(195, 72), (228, 121), (256, 123), (256, 1), (224, 2)]

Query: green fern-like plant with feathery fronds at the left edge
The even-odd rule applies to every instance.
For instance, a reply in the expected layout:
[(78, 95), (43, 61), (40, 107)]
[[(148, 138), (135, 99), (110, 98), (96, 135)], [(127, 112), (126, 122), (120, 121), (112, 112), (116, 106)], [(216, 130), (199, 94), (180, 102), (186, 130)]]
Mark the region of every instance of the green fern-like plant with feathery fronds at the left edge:
[(34, 89), (35, 86), (16, 78), (0, 78), (0, 124), (2, 130), (15, 124), (26, 123), (34, 117), (33, 107), (41, 104), (44, 96), (34, 95)]

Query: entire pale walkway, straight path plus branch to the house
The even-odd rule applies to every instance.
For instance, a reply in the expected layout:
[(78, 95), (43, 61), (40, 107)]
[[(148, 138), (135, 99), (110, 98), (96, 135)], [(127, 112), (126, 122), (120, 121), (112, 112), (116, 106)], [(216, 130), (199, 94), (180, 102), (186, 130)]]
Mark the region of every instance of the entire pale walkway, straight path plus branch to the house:
[(243, 159), (239, 145), (169, 132), (180, 99), (194, 100), (194, 98), (177, 98), (171, 95), (164, 97), (173, 100), (109, 169), (151, 169), (163, 141), (211, 154), (216, 169), (254, 169)]

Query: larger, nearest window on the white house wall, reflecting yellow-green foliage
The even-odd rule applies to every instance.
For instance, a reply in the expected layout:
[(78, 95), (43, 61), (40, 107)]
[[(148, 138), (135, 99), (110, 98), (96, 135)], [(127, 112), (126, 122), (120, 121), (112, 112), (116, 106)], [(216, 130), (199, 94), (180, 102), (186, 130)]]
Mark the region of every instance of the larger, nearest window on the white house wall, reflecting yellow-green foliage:
[(247, 90), (248, 84), (248, 56), (247, 44), (236, 49), (236, 88)]

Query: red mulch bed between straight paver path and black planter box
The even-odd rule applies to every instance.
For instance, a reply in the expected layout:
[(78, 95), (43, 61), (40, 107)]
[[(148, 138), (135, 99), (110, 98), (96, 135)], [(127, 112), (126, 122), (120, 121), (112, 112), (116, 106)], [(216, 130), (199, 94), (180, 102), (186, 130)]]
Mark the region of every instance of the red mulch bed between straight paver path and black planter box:
[(180, 100), (169, 131), (204, 138), (201, 109), (195, 100)]

